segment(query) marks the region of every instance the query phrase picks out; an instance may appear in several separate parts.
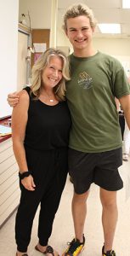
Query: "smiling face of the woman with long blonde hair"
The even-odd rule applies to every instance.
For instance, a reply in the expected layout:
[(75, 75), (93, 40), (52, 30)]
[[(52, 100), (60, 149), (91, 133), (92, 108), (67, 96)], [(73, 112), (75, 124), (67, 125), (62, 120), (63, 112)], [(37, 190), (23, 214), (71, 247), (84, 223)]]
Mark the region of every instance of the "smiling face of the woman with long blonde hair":
[(63, 61), (59, 56), (51, 56), (47, 67), (42, 72), (42, 81), (45, 88), (53, 89), (62, 79)]

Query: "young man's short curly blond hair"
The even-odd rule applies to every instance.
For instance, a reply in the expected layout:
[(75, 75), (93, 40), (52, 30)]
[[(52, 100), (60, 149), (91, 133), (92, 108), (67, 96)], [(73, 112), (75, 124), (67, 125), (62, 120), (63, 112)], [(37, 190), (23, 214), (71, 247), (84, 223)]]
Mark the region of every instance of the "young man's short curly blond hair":
[(92, 9), (89, 9), (87, 5), (85, 4), (73, 4), (69, 9), (66, 10), (66, 13), (64, 15), (64, 25), (63, 29), (65, 32), (67, 32), (67, 20), (70, 18), (76, 18), (78, 16), (87, 16), (90, 20), (90, 26), (94, 28), (97, 24), (97, 20), (95, 19), (93, 15)]

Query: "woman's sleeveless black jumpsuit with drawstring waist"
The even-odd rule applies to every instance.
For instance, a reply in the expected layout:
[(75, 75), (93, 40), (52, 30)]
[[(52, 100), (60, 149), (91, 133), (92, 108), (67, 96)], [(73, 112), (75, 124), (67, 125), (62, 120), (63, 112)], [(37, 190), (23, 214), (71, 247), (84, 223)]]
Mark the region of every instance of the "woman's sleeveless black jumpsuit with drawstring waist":
[[(30, 87), (25, 90), (30, 96)], [(15, 224), (15, 239), (20, 252), (26, 252), (31, 240), (32, 223), (39, 203), (39, 242), (42, 246), (48, 244), (68, 172), (70, 128), (71, 115), (66, 102), (48, 106), (30, 96), (24, 145), (28, 170), (36, 189), (29, 191), (20, 183), (20, 206)]]

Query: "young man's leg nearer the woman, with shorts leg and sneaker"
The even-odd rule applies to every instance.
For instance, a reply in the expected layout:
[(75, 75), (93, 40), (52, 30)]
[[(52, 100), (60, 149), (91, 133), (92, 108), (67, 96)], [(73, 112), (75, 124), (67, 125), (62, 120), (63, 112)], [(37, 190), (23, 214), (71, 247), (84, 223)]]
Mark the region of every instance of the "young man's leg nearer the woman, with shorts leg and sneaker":
[(89, 188), (93, 183), (94, 168), (97, 160), (99, 160), (99, 157), (97, 158), (95, 154), (69, 149), (69, 173), (73, 179), (75, 191), (72, 200), (75, 238), (69, 243), (69, 247), (67, 247), (62, 256), (77, 256), (84, 247), (85, 237), (83, 236), (83, 230), (87, 215), (87, 199)]

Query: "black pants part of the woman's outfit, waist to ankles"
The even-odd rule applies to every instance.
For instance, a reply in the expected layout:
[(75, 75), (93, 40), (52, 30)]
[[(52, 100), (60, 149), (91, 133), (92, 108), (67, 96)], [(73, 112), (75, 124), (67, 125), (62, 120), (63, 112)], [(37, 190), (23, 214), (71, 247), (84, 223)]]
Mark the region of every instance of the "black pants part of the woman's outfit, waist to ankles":
[(38, 237), (42, 246), (48, 244), (54, 215), (58, 210), (68, 171), (67, 149), (59, 148), (45, 152), (26, 150), (29, 170), (36, 184), (35, 191), (29, 191), (20, 184), (20, 206), (16, 214), (15, 239), (17, 249), (26, 252), (31, 240), (31, 228), (37, 207), (41, 204), (38, 222)]

